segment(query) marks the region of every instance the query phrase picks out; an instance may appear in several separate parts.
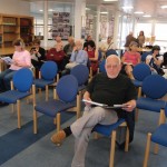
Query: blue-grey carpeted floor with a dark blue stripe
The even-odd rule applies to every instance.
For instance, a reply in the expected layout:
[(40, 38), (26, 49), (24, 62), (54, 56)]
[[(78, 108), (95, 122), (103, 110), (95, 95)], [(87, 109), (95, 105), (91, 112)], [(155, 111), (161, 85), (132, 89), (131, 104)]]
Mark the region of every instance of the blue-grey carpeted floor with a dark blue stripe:
[[(22, 104), (22, 128), (17, 129), (17, 115), (11, 107), (0, 108), (0, 166), (1, 167), (70, 167), (73, 156), (73, 136), (68, 137), (61, 147), (50, 141), (55, 132), (52, 119), (40, 115), (38, 134), (32, 132), (32, 106)], [(70, 125), (76, 117), (73, 114), (63, 114), (62, 128)], [(116, 147), (115, 167), (141, 167), (148, 131), (154, 131), (158, 124), (158, 114), (139, 112), (136, 122), (135, 139), (125, 153)], [(167, 166), (167, 149), (160, 147), (159, 154), (149, 157), (149, 167)], [(90, 139), (86, 156), (86, 167), (108, 167), (110, 139), (102, 137)]]

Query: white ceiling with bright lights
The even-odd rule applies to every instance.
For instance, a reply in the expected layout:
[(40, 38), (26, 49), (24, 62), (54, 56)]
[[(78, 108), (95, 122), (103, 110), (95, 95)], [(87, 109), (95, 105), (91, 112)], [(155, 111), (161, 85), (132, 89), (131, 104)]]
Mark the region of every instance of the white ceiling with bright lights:
[[(31, 12), (39, 12), (43, 8), (45, 0), (21, 0), (32, 2), (35, 8), (31, 8)], [(59, 3), (75, 3), (76, 0), (48, 0), (49, 9), (56, 8)], [(120, 14), (131, 14), (143, 17), (149, 14), (154, 19), (167, 18), (167, 9), (161, 9), (160, 6), (167, 6), (167, 0), (118, 0), (115, 2), (104, 2), (104, 0), (86, 0), (87, 7), (96, 11), (97, 6), (101, 7), (101, 11), (119, 11)], [(124, 6), (131, 6), (132, 9), (122, 9)], [(143, 11), (143, 14), (135, 14), (135, 11)]]

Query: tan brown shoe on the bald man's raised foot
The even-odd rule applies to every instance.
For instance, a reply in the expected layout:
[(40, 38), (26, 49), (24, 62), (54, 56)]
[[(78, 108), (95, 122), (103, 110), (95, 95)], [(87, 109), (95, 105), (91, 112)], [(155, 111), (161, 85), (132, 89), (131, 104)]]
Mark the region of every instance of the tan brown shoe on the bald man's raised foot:
[(51, 141), (57, 146), (60, 146), (65, 138), (66, 138), (65, 131), (60, 130), (59, 132), (51, 136)]

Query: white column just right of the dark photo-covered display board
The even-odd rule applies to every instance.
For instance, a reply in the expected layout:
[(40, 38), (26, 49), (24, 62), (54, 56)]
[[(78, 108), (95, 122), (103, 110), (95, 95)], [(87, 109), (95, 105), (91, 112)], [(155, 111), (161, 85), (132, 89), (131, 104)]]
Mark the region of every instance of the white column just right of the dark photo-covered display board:
[(75, 39), (81, 39), (81, 19), (86, 19), (86, 0), (75, 3)]

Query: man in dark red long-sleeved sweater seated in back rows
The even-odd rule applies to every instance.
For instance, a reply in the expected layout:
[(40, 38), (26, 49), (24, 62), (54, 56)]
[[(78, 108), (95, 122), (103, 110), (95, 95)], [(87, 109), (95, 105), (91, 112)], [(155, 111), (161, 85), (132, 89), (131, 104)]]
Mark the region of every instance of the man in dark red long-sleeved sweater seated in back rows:
[(56, 48), (51, 48), (47, 53), (47, 60), (52, 60), (57, 62), (59, 71), (63, 70), (63, 65), (62, 65), (63, 58), (65, 58), (65, 52), (62, 50), (61, 45), (56, 45)]

